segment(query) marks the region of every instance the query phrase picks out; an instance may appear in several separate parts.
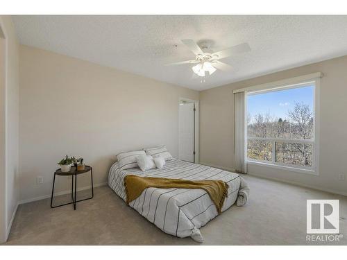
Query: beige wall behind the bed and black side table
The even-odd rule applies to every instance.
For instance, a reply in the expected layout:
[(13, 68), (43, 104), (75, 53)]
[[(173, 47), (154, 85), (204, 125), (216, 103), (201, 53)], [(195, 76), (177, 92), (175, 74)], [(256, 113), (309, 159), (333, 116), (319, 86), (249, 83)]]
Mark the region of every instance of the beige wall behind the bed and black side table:
[[(106, 182), (121, 151), (166, 144), (177, 156), (179, 97), (198, 99), (198, 92), (21, 45), (21, 200), (50, 194), (65, 155), (92, 165), (95, 184)], [(81, 177), (78, 186), (88, 181)], [(60, 177), (58, 190), (69, 189), (65, 183)]]

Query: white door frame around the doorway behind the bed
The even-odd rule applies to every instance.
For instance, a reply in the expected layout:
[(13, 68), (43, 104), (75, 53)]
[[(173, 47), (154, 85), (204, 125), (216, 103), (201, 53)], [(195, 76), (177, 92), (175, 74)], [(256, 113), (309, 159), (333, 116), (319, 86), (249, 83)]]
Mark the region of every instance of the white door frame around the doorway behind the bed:
[[(194, 99), (189, 99), (189, 98), (178, 98), (178, 128), (177, 128), (177, 132), (178, 132), (178, 135), (177, 135), (177, 152), (179, 153), (180, 152), (180, 147), (179, 147), (179, 138), (180, 138), (180, 103), (181, 101), (186, 101), (186, 102), (189, 102), (189, 103), (194, 103), (194, 106), (195, 106), (195, 125), (194, 125), (194, 144), (195, 144), (195, 147), (194, 147), (194, 150), (195, 150), (195, 155), (194, 155), (194, 162), (196, 164), (198, 164), (199, 162), (199, 125), (200, 125), (200, 107), (199, 107), (199, 101), (196, 101)], [(178, 154), (177, 154), (178, 156)]]

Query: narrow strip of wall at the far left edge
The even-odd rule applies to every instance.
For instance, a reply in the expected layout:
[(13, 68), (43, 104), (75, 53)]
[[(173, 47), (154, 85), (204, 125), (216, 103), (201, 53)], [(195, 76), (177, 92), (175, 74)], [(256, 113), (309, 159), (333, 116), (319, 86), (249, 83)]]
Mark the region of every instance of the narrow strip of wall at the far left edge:
[(1, 103), (6, 107), (6, 237), (17, 209), (19, 175), (19, 45), (10, 16), (0, 16), (6, 37), (6, 95)]

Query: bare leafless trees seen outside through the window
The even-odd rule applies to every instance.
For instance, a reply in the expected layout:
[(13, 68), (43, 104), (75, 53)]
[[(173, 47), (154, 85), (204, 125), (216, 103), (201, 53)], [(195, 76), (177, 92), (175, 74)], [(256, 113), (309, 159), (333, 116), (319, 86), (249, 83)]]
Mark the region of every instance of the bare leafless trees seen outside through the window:
[[(292, 141), (314, 138), (314, 114), (310, 105), (296, 103), (293, 109), (288, 110), (285, 118), (278, 118), (270, 113), (258, 113), (253, 116), (248, 114), (247, 123), (249, 159), (261, 161), (274, 159), (281, 164), (312, 167), (312, 144)], [(291, 141), (269, 139), (290, 139)]]

